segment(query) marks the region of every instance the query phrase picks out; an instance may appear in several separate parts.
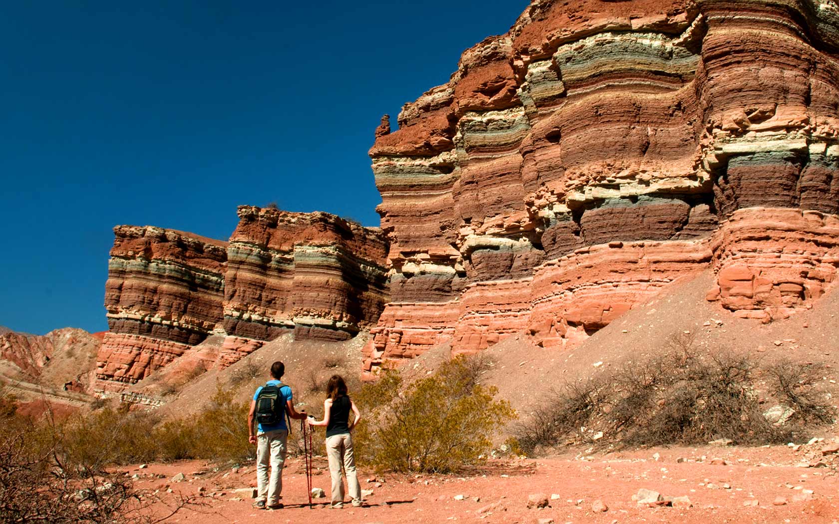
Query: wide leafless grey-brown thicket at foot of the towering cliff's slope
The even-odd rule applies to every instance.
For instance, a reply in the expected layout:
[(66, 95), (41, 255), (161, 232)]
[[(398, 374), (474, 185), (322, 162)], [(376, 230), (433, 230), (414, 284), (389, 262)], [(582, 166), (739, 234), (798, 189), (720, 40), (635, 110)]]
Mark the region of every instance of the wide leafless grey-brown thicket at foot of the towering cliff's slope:
[[(567, 439), (624, 446), (705, 444), (716, 438), (780, 443), (835, 415), (816, 387), (820, 366), (782, 361), (763, 367), (748, 355), (726, 351), (699, 355), (691, 336), (670, 337), (667, 345), (663, 355), (551, 391), (515, 428), (520, 449), (538, 453)], [(765, 377), (769, 394), (795, 412), (787, 423), (763, 416), (757, 389)]]

